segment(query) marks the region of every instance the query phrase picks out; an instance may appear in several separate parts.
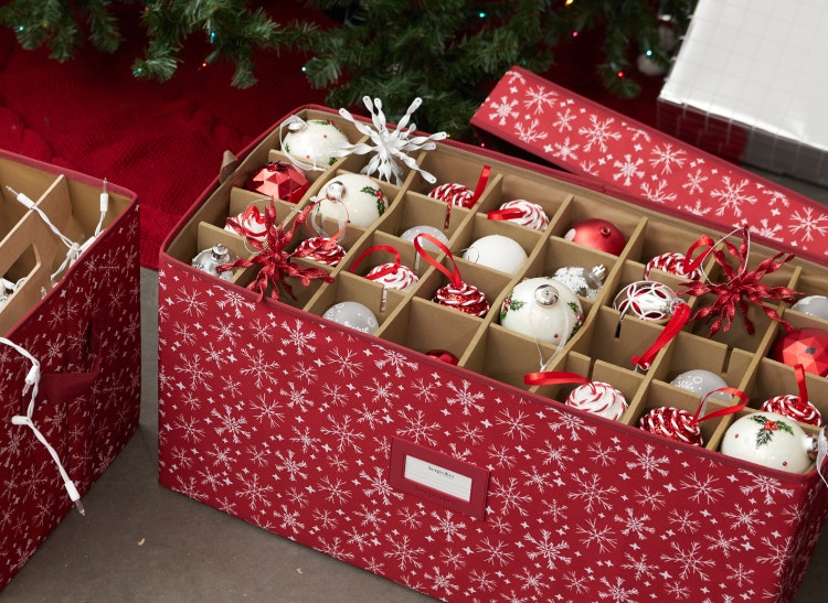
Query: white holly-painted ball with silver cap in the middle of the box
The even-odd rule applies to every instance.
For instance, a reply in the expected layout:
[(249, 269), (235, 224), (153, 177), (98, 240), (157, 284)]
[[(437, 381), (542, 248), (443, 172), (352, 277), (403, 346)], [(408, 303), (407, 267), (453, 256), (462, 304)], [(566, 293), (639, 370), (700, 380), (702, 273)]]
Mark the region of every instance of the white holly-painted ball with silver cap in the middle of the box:
[(505, 329), (552, 345), (564, 345), (583, 322), (577, 295), (548, 277), (519, 282), (500, 306), (500, 324)]

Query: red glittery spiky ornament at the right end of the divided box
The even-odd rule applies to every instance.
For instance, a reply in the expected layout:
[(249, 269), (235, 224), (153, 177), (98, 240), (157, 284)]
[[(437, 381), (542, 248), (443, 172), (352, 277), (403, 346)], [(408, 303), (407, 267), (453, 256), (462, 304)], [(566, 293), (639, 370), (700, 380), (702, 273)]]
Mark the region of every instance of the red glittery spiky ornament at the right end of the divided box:
[[(792, 326), (771, 306), (765, 305), (764, 301), (784, 301), (792, 303), (795, 301), (797, 295), (802, 293), (794, 291), (787, 287), (772, 287), (762, 282), (762, 279), (778, 270), (784, 263), (794, 259), (792, 254), (778, 252), (772, 258), (766, 258), (760, 262), (755, 270), (747, 269), (747, 257), (750, 248), (750, 230), (747, 227), (742, 228), (742, 243), (739, 247), (730, 243), (726, 238), (723, 239), (724, 247), (728, 254), (735, 259), (735, 266), (728, 261), (728, 257), (723, 249), (716, 249), (714, 241), (707, 235), (703, 235), (688, 252), (688, 258), (691, 257), (692, 251), (698, 247), (707, 247), (707, 251), (702, 255), (707, 257), (712, 255), (715, 259), (716, 265), (722, 270), (721, 281), (705, 280), (704, 277), (694, 279), (689, 282), (680, 283), (681, 287), (686, 287), (680, 294), (689, 295), (707, 295), (712, 294), (715, 297), (715, 301), (711, 305), (705, 305), (696, 311), (692, 320), (707, 320), (711, 322), (709, 337), (712, 337), (719, 331), (726, 333), (730, 330), (733, 317), (736, 314), (736, 310), (742, 313), (744, 317), (745, 330), (749, 334), (755, 332), (753, 322), (747, 317), (749, 304), (755, 304), (762, 308), (762, 310), (772, 320), (779, 322), (786, 331), (790, 331)], [(696, 260), (699, 261), (699, 260)]]

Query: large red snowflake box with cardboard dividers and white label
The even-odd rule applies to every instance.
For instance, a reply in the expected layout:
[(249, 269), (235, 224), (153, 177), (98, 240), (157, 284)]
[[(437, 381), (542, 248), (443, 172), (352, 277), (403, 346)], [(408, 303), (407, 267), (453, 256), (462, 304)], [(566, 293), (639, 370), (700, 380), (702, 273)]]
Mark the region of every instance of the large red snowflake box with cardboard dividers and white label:
[[(353, 126), (328, 109), (297, 115), (331, 120), (359, 140)], [(795, 388), (793, 368), (767, 358), (782, 327), (761, 312), (751, 313), (752, 336), (734, 322), (711, 340), (705, 325), (689, 323), (647, 373), (630, 362), (662, 327), (629, 317), (619, 324), (617, 290), (641, 280), (649, 258), (721, 233), (553, 170), (439, 143), (416, 157), (438, 184), (474, 187), (481, 169), (490, 168), (477, 204), (453, 208), (445, 229), (463, 279), (491, 304), (486, 316), (432, 302), (447, 279), (426, 262), (416, 269), (416, 287), (389, 290), (382, 310), (381, 287), (361, 276), (368, 267), (351, 271), (373, 245), (393, 245), (404, 263), (413, 261), (414, 249), (400, 234), (423, 222), (444, 226), (445, 203), (427, 196), (433, 185), (416, 171), (401, 185), (380, 183), (389, 208), (368, 228), (348, 227), (341, 239), (348, 254), (326, 268), (333, 282), (295, 282), (297, 299), (258, 300), (245, 288), (255, 269), (227, 282), (190, 261), (215, 243), (251, 255), (243, 239), (223, 230), (224, 220), (254, 197), (268, 203), (242, 186), (267, 161), (284, 159), (279, 148), (276, 127), (231, 177), (193, 204), (162, 248), (161, 484), (437, 599), (793, 596), (828, 512), (817, 471), (790, 474), (719, 453), (732, 416), (702, 423), (703, 448), (636, 427), (655, 407), (696, 410), (698, 397), (670, 385), (690, 368), (718, 373), (745, 391), (744, 412), (781, 387)], [(298, 207), (276, 202), (279, 219), (289, 220), (325, 183), (359, 172), (364, 162), (350, 155), (316, 174)], [(487, 219), (487, 212), (514, 198), (542, 205), (550, 226), (541, 233)], [(619, 255), (565, 238), (574, 222), (588, 217), (623, 230), (627, 245)], [(518, 274), (459, 257), (491, 233), (524, 248), (528, 260)], [(753, 244), (751, 262), (774, 252)], [(584, 325), (561, 353), (498, 323), (502, 301), (521, 279), (594, 265), (606, 267), (606, 282), (596, 299), (580, 300)], [(825, 294), (824, 274), (824, 267), (797, 258), (772, 277), (774, 284)], [(375, 311), (375, 335), (322, 317), (344, 300)], [(795, 326), (828, 327), (784, 304), (778, 311)], [(450, 352), (458, 365), (425, 354), (434, 349)], [(551, 370), (615, 385), (629, 408), (614, 422), (559, 402), (569, 386), (524, 385), (539, 356), (553, 357)], [(828, 412), (828, 380), (808, 375), (807, 385)]]

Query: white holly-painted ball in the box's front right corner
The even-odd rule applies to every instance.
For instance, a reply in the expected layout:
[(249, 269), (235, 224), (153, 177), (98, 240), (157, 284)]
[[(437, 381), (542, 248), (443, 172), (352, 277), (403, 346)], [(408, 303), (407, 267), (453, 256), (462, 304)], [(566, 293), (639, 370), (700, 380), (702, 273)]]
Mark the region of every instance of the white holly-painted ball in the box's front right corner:
[(805, 473), (817, 451), (817, 440), (787, 417), (757, 411), (728, 428), (720, 451), (766, 467)]

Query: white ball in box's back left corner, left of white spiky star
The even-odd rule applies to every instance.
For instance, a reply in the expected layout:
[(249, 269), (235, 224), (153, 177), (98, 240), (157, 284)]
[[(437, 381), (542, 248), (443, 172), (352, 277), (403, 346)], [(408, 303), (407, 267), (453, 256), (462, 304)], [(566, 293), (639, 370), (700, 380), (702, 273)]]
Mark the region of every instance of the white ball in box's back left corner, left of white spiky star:
[(282, 152), (305, 171), (325, 171), (337, 160), (336, 152), (350, 143), (342, 130), (327, 119), (305, 121), (291, 116), (279, 127), (280, 134), (283, 129), (287, 129), (287, 134), (282, 138)]

